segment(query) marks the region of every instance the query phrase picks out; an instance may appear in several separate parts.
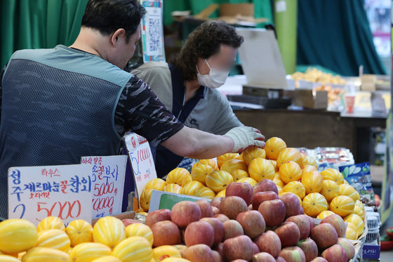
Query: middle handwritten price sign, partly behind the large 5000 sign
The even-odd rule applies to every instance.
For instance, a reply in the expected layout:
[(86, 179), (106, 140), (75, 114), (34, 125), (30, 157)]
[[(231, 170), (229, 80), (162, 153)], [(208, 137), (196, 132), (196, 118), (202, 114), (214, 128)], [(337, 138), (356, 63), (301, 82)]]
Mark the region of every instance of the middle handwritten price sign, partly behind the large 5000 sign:
[(91, 166), (93, 219), (121, 213), (127, 156), (82, 157)]

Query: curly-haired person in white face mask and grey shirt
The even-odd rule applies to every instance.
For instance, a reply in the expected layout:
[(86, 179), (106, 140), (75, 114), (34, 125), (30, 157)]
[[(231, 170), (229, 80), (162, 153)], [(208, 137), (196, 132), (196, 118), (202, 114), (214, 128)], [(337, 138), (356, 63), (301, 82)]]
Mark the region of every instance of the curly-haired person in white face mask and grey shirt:
[[(132, 73), (145, 81), (185, 126), (223, 135), (243, 126), (227, 98), (215, 90), (225, 83), (243, 41), (234, 27), (225, 22), (204, 22), (189, 34), (173, 63), (149, 62)], [(157, 147), (158, 175), (165, 176), (182, 158)]]

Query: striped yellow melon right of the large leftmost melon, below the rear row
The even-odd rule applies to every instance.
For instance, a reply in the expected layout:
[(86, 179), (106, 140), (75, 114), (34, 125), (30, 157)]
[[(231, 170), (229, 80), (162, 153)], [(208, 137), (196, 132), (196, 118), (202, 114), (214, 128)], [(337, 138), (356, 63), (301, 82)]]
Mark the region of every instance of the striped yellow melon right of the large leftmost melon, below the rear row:
[(37, 247), (49, 247), (68, 252), (71, 241), (68, 235), (60, 229), (43, 230), (38, 233)]

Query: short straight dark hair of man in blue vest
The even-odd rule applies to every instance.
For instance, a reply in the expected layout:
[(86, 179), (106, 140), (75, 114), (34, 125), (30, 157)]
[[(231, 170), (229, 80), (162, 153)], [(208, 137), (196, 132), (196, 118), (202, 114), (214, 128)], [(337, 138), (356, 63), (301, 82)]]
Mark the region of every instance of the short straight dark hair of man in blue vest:
[(128, 42), (145, 13), (138, 0), (88, 0), (82, 26), (91, 27), (103, 35), (123, 28)]

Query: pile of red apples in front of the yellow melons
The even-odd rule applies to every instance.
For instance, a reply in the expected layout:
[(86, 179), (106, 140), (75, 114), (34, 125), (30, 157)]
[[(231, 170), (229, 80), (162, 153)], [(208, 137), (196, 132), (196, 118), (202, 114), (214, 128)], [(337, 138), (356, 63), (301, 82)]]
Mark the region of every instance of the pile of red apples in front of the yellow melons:
[(211, 203), (183, 201), (171, 211), (150, 212), (146, 225), (152, 228), (154, 247), (175, 245), (192, 262), (347, 262), (354, 256), (340, 216), (328, 216), (315, 225), (298, 197), (278, 197), (270, 180), (254, 188), (231, 183), (225, 195)]

